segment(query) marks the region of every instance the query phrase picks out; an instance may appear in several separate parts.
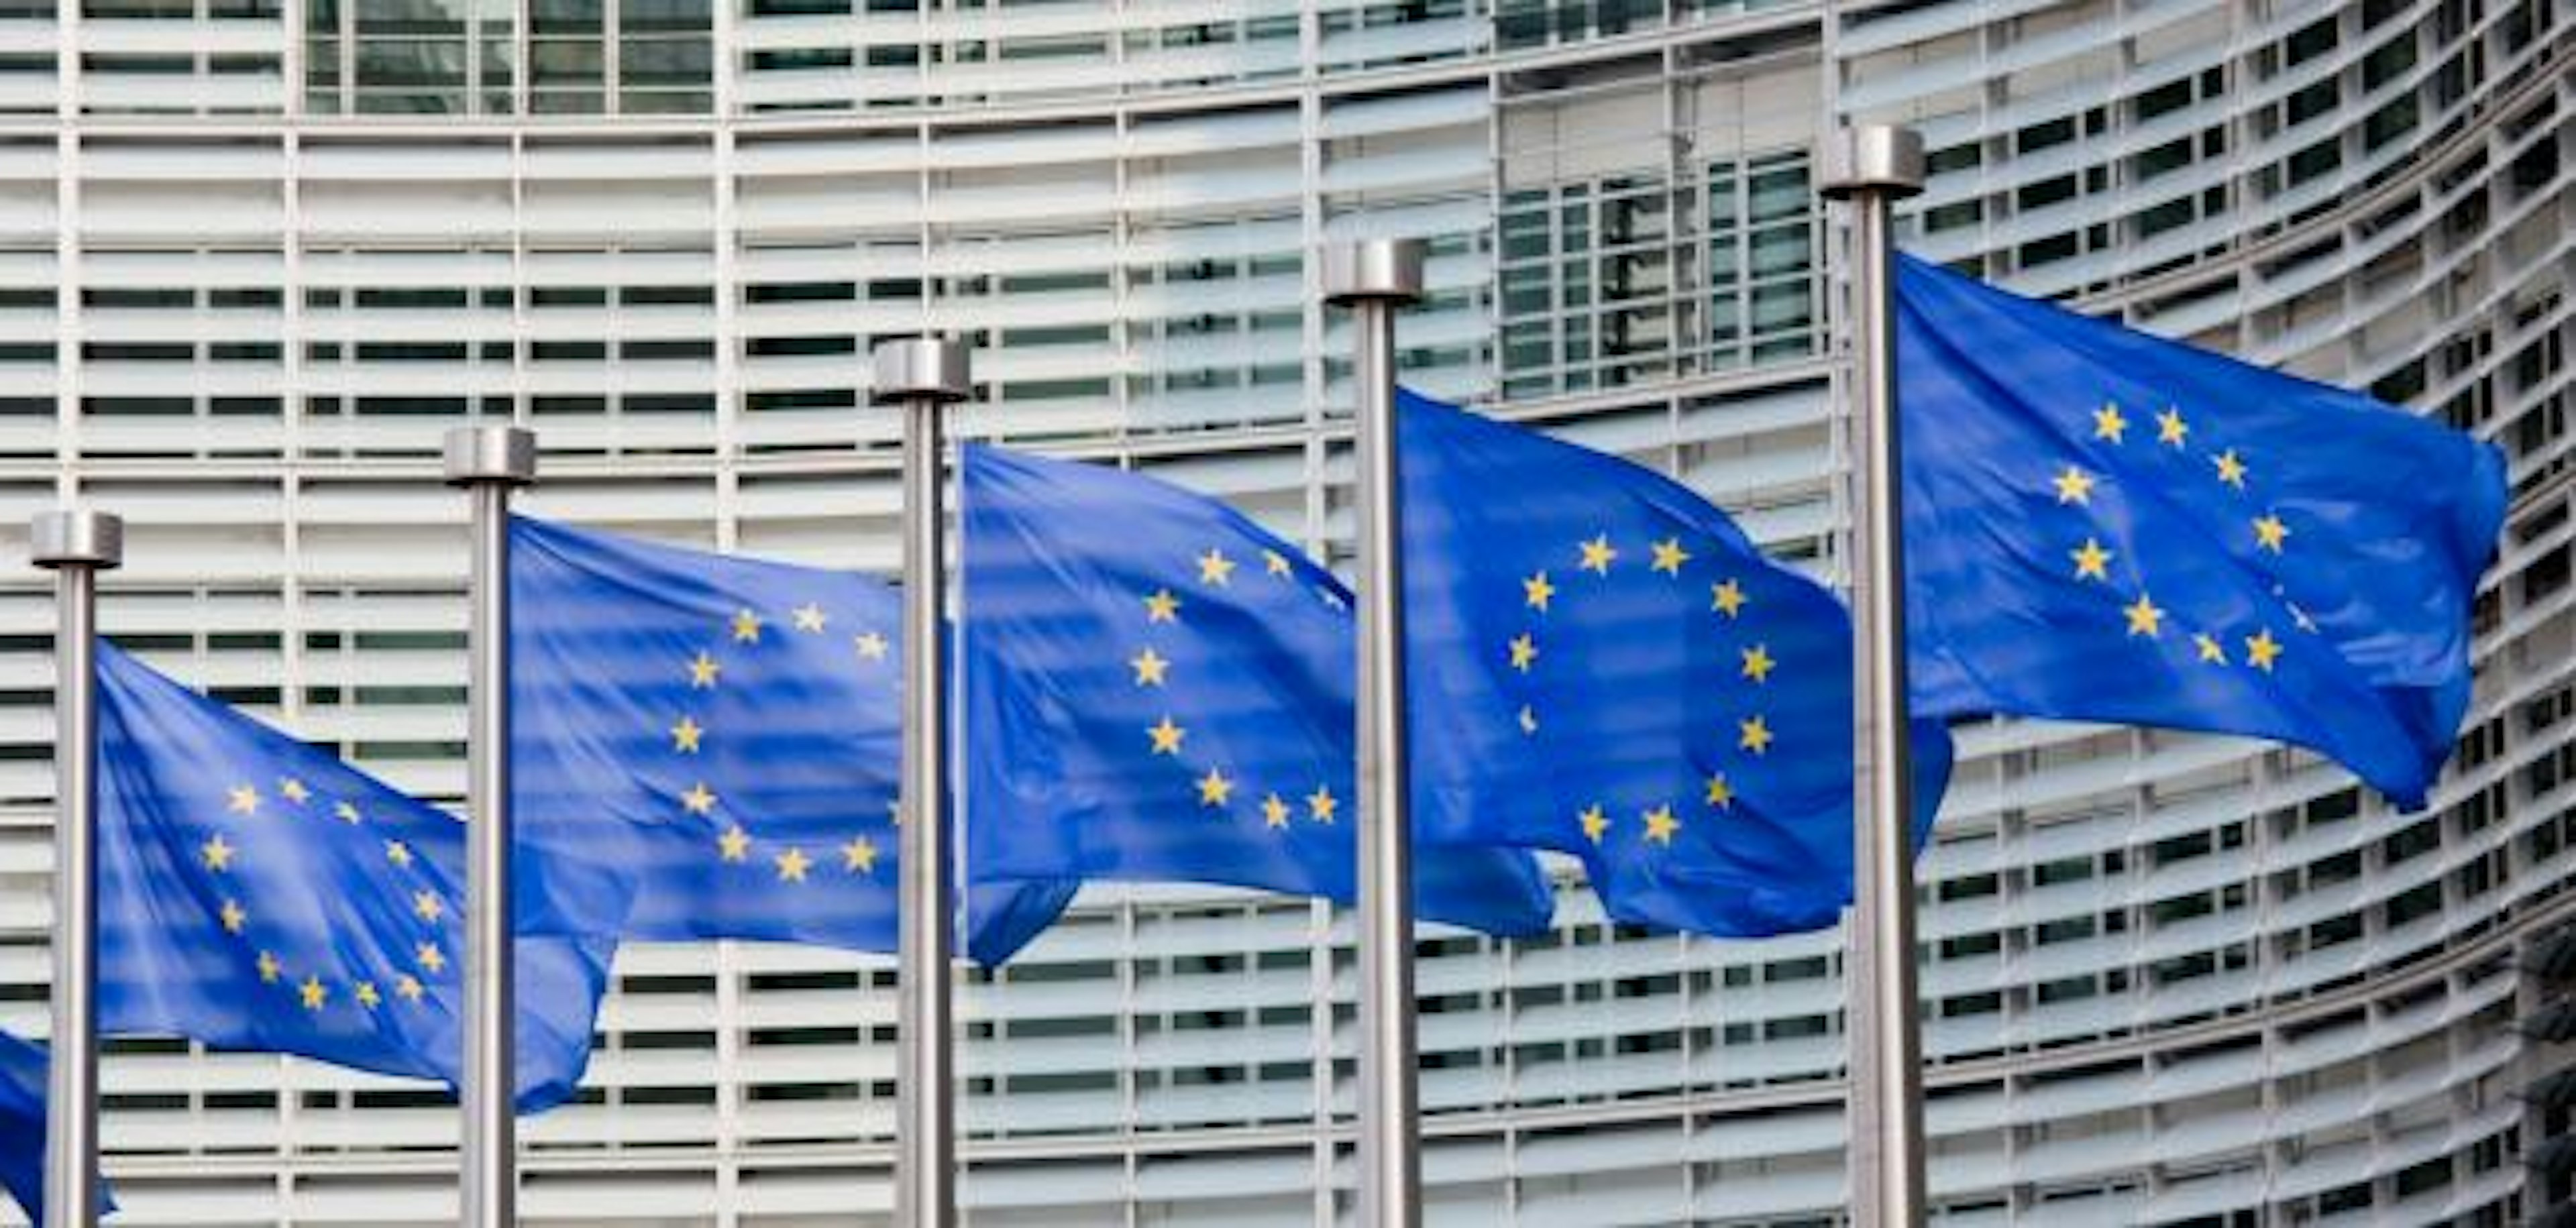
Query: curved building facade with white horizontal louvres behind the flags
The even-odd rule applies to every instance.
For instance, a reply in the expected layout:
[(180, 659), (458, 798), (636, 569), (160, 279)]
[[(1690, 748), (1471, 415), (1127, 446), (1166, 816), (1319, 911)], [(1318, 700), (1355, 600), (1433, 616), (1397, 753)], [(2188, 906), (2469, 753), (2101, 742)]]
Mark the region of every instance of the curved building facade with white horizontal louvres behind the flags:
[[(0, 0), (0, 535), (129, 517), (103, 626), (453, 801), (464, 502), (891, 572), (871, 340), (961, 332), (976, 438), (1350, 554), (1319, 250), (1432, 242), (1409, 378), (1695, 484), (1839, 577), (1842, 121), (1904, 242), (2496, 440), (2514, 505), (2450, 777), (1960, 731), (1922, 862), (1940, 1223), (2576, 1218), (2576, 10), (2563, 0)], [(0, 592), (0, 1027), (44, 1025), (46, 592)], [(1435, 1223), (1826, 1225), (1839, 935), (1566, 888), (1422, 945)], [(1092, 891), (966, 989), (971, 1223), (1321, 1225), (1350, 919)], [(528, 1223), (886, 1223), (891, 965), (636, 947)], [(124, 1040), (137, 1225), (453, 1220), (435, 1089)]]

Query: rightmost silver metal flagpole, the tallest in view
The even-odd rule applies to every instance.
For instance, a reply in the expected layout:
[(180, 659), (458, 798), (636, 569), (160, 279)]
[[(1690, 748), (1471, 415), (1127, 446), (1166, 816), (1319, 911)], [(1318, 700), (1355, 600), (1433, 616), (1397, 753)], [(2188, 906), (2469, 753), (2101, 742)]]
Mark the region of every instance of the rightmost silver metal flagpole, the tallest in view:
[(1839, 136), (1821, 185), (1852, 211), (1852, 927), (1844, 958), (1852, 1225), (1924, 1223), (1922, 999), (1914, 989), (1914, 765), (1896, 430), (1896, 201), (1924, 185), (1914, 129)]

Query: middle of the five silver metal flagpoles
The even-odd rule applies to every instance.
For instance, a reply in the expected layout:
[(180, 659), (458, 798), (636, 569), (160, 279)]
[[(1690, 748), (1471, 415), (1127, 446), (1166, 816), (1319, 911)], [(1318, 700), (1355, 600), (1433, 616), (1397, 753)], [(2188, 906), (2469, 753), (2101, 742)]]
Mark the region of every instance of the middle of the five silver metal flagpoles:
[(971, 386), (966, 342), (902, 337), (876, 345), (868, 396), (904, 407), (904, 832), (896, 883), (894, 1223), (956, 1223), (956, 1037), (951, 960), (956, 909), (948, 788), (948, 672), (940, 615), (948, 572), (940, 556), (943, 412)]

